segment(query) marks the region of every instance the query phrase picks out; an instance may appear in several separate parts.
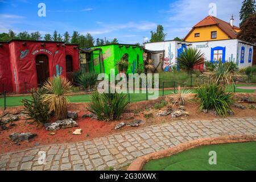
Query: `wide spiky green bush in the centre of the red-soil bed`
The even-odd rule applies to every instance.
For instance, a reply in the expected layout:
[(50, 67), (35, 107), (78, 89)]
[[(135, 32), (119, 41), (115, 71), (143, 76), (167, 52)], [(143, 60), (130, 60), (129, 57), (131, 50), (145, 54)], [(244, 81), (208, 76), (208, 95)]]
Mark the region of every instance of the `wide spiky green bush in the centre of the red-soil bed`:
[(87, 109), (101, 121), (120, 119), (128, 104), (125, 94), (94, 92)]

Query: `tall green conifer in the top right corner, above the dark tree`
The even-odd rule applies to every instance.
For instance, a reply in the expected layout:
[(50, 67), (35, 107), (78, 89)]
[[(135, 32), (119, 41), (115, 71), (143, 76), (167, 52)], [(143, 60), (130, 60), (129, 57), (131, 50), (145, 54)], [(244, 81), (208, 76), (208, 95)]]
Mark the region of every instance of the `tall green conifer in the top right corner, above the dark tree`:
[(245, 23), (249, 15), (254, 14), (255, 12), (255, 0), (244, 0), (242, 2), (242, 7), (240, 10), (240, 26)]

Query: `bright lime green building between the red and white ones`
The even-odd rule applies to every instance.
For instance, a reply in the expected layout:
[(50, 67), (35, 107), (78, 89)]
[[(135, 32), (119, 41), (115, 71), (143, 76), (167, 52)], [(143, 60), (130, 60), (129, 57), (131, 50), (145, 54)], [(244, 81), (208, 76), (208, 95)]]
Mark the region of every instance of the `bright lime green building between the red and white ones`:
[[(110, 69), (118, 73), (117, 61), (126, 59), (129, 67), (126, 73), (137, 73), (138, 69), (143, 72), (143, 47), (133, 44), (108, 44), (81, 50), (85, 53), (86, 66), (84, 69), (94, 73), (106, 73), (110, 75)], [(83, 66), (81, 66), (83, 68)]]

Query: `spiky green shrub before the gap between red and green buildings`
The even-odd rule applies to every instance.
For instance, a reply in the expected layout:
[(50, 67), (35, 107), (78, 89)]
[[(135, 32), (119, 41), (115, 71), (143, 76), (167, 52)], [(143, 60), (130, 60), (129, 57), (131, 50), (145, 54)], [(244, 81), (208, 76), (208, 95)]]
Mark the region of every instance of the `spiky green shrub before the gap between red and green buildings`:
[(97, 77), (96, 73), (81, 73), (78, 83), (84, 89), (93, 88), (97, 83)]

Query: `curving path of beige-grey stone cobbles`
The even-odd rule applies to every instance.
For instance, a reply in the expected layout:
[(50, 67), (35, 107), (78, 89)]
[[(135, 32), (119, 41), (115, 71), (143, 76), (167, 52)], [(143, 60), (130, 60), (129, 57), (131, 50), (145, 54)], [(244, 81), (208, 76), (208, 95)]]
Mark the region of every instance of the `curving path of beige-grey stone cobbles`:
[[(256, 134), (256, 118), (172, 121), (85, 142), (55, 144), (2, 154), (0, 170), (118, 169), (139, 156), (189, 140), (240, 134)], [(45, 155), (39, 155), (42, 151)], [(45, 160), (39, 160), (42, 156), (46, 156)]]

